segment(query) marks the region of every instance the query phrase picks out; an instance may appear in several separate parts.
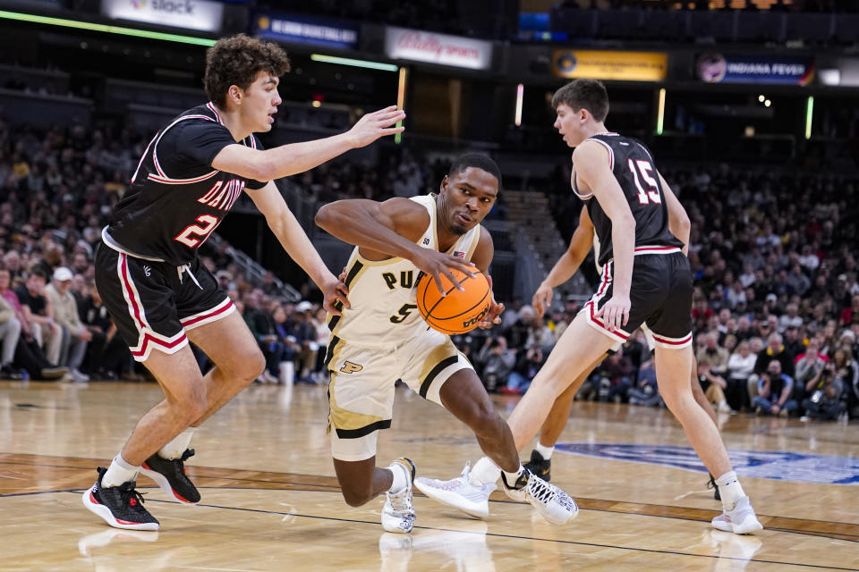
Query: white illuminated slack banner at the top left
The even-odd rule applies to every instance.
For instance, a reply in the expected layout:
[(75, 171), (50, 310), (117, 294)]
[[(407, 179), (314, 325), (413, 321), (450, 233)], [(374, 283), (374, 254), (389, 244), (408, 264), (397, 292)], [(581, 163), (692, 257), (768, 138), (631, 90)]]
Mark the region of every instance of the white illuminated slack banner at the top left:
[(101, 0), (101, 13), (113, 20), (217, 32), (224, 4), (209, 0)]

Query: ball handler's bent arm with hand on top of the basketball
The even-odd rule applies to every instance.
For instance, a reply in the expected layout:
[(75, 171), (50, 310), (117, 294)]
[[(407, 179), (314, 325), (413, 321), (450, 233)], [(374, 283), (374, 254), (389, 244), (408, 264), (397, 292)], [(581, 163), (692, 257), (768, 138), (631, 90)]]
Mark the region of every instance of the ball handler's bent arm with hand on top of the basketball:
[[(442, 274), (456, 284), (451, 269), (472, 274), (474, 267), (462, 258), (417, 245), (429, 222), (427, 209), (408, 198), (389, 198), (383, 203), (364, 198), (338, 200), (322, 206), (316, 214), (316, 223), (321, 228), (361, 248), (361, 256), (411, 260), (423, 273), (432, 276), (438, 290), (444, 292)], [(459, 289), (463, 290), (461, 286)]]

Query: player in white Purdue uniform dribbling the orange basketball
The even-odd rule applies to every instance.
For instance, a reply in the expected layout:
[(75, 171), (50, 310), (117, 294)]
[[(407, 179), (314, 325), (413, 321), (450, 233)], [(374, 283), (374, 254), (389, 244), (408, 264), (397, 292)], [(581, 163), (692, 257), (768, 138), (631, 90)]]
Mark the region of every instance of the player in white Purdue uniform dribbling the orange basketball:
[[(456, 283), (450, 269), (487, 272), (494, 247), (480, 223), (500, 186), (498, 165), (472, 154), (455, 160), (438, 196), (383, 203), (343, 200), (316, 215), (320, 227), (355, 245), (344, 279), (349, 304), (328, 322), (325, 363), (331, 374), (328, 431), (334, 467), (350, 506), (387, 493), (381, 520), (388, 532), (411, 532), (415, 517), (412, 461), (398, 458), (388, 467), (376, 466), (378, 430), (391, 425), (397, 380), (472, 428), (501, 470), (508, 495), (530, 502), (554, 524), (566, 523), (578, 511), (566, 492), (522, 467), (510, 428), (472, 365), (447, 335), (429, 328), (415, 304), (421, 272), (439, 290), (441, 274)], [(503, 309), (493, 300), (479, 325), (499, 322)], [(482, 497), (494, 488), (487, 484), (479, 493)]]

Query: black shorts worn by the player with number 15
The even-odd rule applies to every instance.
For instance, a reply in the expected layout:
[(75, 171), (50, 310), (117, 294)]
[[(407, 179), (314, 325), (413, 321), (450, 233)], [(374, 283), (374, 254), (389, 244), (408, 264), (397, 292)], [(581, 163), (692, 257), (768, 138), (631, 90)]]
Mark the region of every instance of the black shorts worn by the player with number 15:
[(614, 270), (614, 261), (609, 261), (603, 268), (600, 288), (584, 305), (582, 312), (588, 324), (625, 342), (630, 332), (646, 322), (657, 347), (679, 349), (692, 344), (692, 270), (679, 248), (635, 248), (629, 321), (624, 329), (609, 332), (596, 313), (611, 299)]

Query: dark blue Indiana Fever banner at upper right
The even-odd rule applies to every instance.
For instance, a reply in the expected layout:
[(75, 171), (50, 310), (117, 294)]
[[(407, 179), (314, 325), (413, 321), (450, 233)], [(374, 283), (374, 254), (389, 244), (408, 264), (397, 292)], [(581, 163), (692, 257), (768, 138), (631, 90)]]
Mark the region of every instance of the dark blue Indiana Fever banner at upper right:
[(811, 57), (723, 55), (707, 52), (695, 61), (695, 76), (707, 83), (807, 85), (814, 78)]

